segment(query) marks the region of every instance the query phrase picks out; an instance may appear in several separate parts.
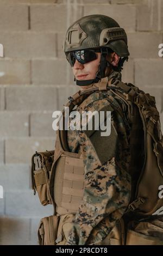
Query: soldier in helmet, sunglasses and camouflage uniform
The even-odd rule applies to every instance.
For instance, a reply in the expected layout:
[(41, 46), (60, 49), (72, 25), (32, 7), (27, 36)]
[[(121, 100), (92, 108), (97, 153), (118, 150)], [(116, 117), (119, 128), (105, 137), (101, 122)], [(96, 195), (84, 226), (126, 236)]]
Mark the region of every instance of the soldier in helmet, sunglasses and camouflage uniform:
[[(75, 109), (82, 117), (83, 111), (97, 111), (99, 115), (101, 111), (104, 114), (110, 111), (111, 130), (109, 136), (101, 136), (102, 129), (98, 123), (92, 126), (92, 130), (57, 131), (49, 181), (50, 199), (48, 196), (48, 200), (45, 200), (48, 195), (45, 188), (41, 194), (43, 204), (51, 201), (54, 216), (57, 216), (57, 220), (59, 218), (55, 230), (57, 239), (53, 244), (124, 245), (126, 220), (131, 221), (131, 217), (128, 219), (130, 211), (139, 209), (143, 215), (148, 215), (148, 212), (155, 215), (160, 206), (162, 209), (162, 200), (158, 200), (157, 191), (162, 182), (162, 160), (158, 155), (161, 156), (159, 150), (163, 153), (163, 149), (155, 100), (132, 84), (121, 82), (122, 66), (129, 56), (127, 35), (111, 17), (90, 15), (74, 22), (67, 29), (64, 51), (74, 80), (80, 87), (79, 92), (68, 98), (66, 106), (70, 108), (70, 113)], [(143, 117), (146, 115), (147, 120), (144, 125), (140, 109), (145, 109)], [(65, 117), (64, 111), (63, 115)], [(77, 126), (77, 119), (71, 114), (69, 119)], [(146, 121), (150, 124), (145, 125)], [(96, 125), (99, 130), (95, 128)], [(155, 151), (149, 147), (151, 151), (148, 154), (146, 141), (151, 137), (145, 136), (145, 126), (150, 127), (150, 134), (153, 131), (156, 133), (155, 140), (160, 143), (159, 149), (154, 148)], [(155, 157), (158, 157), (159, 167), (156, 166)], [(157, 175), (155, 184), (153, 168), (155, 177)], [(145, 179), (141, 170), (146, 172)], [(138, 183), (142, 184), (141, 190), (137, 187)], [(42, 180), (37, 179), (37, 184), (42, 184)], [(152, 201), (148, 198), (149, 194), (153, 197)], [(153, 232), (154, 236), (158, 235), (154, 224), (151, 229), (148, 225), (148, 233), (146, 221), (145, 224), (143, 222), (146, 228), (140, 224), (134, 226), (133, 223), (132, 228), (137, 228), (138, 233), (149, 236)], [(158, 225), (157, 220), (153, 223)], [(160, 230), (159, 238), (163, 237)], [(151, 237), (148, 239), (145, 236), (135, 242), (135, 237), (131, 233), (128, 244), (162, 244), (160, 240), (152, 243)]]

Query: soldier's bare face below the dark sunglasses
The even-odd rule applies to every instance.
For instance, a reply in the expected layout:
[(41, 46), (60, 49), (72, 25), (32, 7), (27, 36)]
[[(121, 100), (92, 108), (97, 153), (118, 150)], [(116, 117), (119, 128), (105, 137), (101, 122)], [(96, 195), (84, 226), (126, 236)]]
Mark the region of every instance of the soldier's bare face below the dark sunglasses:
[(86, 64), (81, 64), (76, 59), (76, 62), (72, 67), (72, 71), (74, 76), (76, 77), (76, 80), (91, 80), (96, 77), (99, 62), (101, 59), (101, 53), (96, 52), (96, 54), (97, 59), (92, 60), (92, 62), (88, 62)]

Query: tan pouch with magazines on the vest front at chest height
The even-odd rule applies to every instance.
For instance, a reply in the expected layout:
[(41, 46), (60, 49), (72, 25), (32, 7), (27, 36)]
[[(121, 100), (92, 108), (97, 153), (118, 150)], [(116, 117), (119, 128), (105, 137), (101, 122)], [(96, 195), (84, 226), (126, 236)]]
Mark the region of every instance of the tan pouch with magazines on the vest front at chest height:
[(51, 175), (54, 150), (35, 153), (32, 156), (31, 178), (34, 194), (38, 193), (42, 205), (52, 204), (49, 194), (49, 178)]

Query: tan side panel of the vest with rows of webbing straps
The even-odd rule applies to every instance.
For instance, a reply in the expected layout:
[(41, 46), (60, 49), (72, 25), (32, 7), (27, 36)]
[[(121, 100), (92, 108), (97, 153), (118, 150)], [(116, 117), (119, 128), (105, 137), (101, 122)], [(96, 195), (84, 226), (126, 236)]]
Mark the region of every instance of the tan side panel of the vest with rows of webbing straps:
[[(54, 199), (57, 213), (76, 213), (84, 193), (83, 159), (62, 155), (55, 172)], [(58, 184), (59, 180), (61, 184)]]

